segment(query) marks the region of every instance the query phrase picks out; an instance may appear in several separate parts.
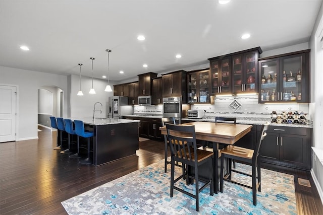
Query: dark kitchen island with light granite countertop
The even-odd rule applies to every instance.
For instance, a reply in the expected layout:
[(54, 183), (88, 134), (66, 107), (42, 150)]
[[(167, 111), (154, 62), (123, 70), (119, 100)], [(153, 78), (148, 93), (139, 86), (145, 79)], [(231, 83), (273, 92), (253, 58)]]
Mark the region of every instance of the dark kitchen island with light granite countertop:
[[(139, 149), (139, 120), (78, 117), (86, 130), (93, 131), (95, 166), (135, 155)], [(91, 140), (92, 141), (92, 140)]]

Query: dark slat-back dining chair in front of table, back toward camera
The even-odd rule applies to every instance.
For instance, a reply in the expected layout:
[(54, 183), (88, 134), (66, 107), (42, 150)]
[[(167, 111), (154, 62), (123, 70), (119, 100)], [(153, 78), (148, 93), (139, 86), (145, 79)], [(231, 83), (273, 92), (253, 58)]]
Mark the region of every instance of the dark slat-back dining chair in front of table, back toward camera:
[[(213, 195), (213, 152), (199, 150), (196, 147), (196, 136), (194, 125), (174, 125), (166, 123), (167, 135), (171, 149), (171, 192), (173, 197), (174, 189), (196, 199), (196, 211), (199, 211), (199, 193), (210, 187), (210, 195)], [(181, 162), (187, 166), (185, 172), (175, 179), (175, 162)], [(199, 177), (198, 169), (201, 165), (206, 165), (209, 171), (208, 179)], [(194, 168), (193, 174), (188, 174), (188, 166)], [(188, 192), (185, 188), (175, 185), (180, 179), (186, 178), (186, 184), (189, 179), (195, 180), (195, 194)], [(199, 188), (199, 182), (204, 183)]]

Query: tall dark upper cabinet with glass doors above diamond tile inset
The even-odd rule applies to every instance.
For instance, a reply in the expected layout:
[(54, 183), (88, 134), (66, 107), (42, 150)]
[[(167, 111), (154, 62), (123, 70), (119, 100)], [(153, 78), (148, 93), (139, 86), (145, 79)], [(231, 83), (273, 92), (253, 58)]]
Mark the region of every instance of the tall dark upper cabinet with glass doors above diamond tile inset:
[(257, 93), (260, 47), (209, 58), (212, 94)]

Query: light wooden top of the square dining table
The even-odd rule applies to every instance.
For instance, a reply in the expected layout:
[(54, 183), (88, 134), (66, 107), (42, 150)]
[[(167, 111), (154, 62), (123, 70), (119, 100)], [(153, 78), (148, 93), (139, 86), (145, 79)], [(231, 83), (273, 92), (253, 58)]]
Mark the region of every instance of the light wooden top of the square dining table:
[[(189, 122), (181, 125), (194, 125), (196, 139), (221, 142), (223, 144), (234, 144), (237, 140), (247, 134), (252, 125), (215, 123), (215, 122)], [(167, 134), (166, 126), (160, 127), (161, 134)]]

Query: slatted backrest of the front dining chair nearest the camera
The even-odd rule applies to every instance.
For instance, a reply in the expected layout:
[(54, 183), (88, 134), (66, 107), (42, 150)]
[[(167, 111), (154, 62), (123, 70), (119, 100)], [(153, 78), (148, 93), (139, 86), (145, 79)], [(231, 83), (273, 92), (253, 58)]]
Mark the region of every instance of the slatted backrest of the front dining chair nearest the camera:
[[(166, 124), (167, 135), (170, 142), (172, 160), (193, 162), (197, 158), (197, 147), (194, 125)], [(194, 157), (193, 157), (194, 156)], [(197, 162), (197, 159), (194, 159)]]

